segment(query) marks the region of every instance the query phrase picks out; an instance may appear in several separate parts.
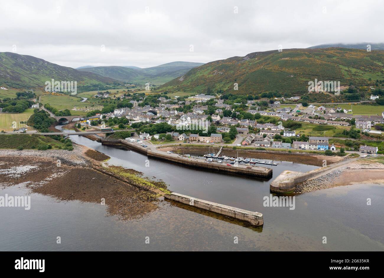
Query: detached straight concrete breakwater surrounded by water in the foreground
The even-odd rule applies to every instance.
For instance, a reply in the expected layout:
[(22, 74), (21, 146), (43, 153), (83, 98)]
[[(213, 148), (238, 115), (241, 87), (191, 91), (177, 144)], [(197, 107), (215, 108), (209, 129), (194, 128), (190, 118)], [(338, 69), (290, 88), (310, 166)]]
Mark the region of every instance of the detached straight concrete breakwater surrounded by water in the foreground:
[(204, 201), (194, 197), (182, 195), (179, 193), (172, 192), (171, 194), (164, 195), (166, 199), (170, 199), (176, 202), (187, 204), (207, 211), (216, 212), (218, 214), (226, 215), (239, 219), (242, 221), (249, 222), (254, 226), (262, 226), (264, 224), (263, 214), (260, 212), (246, 211), (237, 207), (225, 206), (214, 202)]

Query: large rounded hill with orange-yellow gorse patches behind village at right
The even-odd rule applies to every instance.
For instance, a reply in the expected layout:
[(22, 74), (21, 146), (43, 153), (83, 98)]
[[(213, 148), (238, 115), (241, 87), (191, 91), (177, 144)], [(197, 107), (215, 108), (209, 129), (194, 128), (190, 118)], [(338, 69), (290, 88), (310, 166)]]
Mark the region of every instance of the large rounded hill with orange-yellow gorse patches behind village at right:
[[(223, 90), (233, 94), (265, 91), (308, 92), (308, 82), (334, 80), (341, 85), (374, 84), (384, 79), (384, 51), (358, 49), (284, 49), (250, 53), (195, 67), (160, 86), (157, 92), (205, 93)], [(369, 81), (371, 78), (372, 81)], [(238, 90), (234, 90), (234, 83)]]

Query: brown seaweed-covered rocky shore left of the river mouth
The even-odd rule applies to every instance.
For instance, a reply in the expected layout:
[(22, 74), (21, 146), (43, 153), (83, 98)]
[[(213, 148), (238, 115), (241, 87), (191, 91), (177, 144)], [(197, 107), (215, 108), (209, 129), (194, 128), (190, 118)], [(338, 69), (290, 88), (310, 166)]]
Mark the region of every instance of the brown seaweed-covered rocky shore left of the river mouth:
[(73, 151), (0, 150), (0, 189), (22, 184), (58, 201), (104, 202), (108, 214), (121, 220), (159, 209), (158, 197), (164, 194), (160, 189), (166, 184), (153, 186), (129, 169), (115, 173), (103, 165), (105, 158), (109, 156), (76, 144)]

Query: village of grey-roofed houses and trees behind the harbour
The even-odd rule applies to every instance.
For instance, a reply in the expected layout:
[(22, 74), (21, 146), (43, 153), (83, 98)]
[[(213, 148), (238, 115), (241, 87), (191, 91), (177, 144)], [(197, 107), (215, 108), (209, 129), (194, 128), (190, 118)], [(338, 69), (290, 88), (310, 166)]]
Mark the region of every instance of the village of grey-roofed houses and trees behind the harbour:
[[(105, 95), (104, 97), (108, 98), (109, 96)], [(273, 103), (268, 104), (268, 109), (265, 109), (266, 107), (262, 109), (257, 105), (259, 102), (256, 100), (247, 100), (247, 104), (243, 105), (242, 109), (245, 114), (237, 112), (238, 109), (235, 110), (235, 107), (242, 104), (225, 104), (225, 100), (218, 99), (214, 95), (198, 94), (184, 100), (178, 100), (178, 97), (174, 97), (174, 99), (159, 97), (156, 107), (140, 105), (145, 98), (141, 97), (138, 101), (130, 100), (129, 103), (132, 106), (130, 108), (122, 107), (114, 109), (110, 113), (96, 113), (91, 117), (80, 118), (79, 123), (81, 126), (86, 126), (83, 127), (83, 130), (94, 128), (105, 131), (113, 130), (112, 128), (118, 130), (122, 127), (136, 129), (143, 126), (153, 127), (153, 125), (163, 123), (167, 124), (167, 127), (171, 127), (173, 131), (167, 130), (161, 133), (140, 131), (137, 133), (139, 138), (156, 143), (162, 143), (162, 141), (164, 143), (185, 142), (300, 151), (337, 151), (337, 149), (335, 145), (329, 144), (328, 137), (306, 136), (306, 134), (296, 131), (295, 128), (284, 127), (284, 122), (294, 121), (338, 127), (351, 127), (352, 123), (362, 133), (369, 134), (372, 132), (379, 135), (381, 135), (380, 131), (374, 131), (371, 128), (376, 124), (384, 123), (384, 112), (381, 115), (356, 115), (349, 113), (351, 110), (337, 106), (334, 108), (323, 105), (303, 107), (298, 103), (300, 97), (288, 99), (295, 103), (296, 109), (292, 109), (292, 105), (280, 105), (280, 101), (284, 99), (275, 98)], [(192, 112), (183, 112), (186, 105), (191, 107)], [(212, 111), (212, 107), (215, 110), (210, 114), (209, 111)], [(299, 107), (304, 109), (299, 109)], [(277, 120), (272, 121), (273, 123), (264, 121), (258, 123), (257, 118), (260, 117)], [(117, 122), (116, 118), (118, 119)], [(109, 127), (105, 127), (106, 123)], [(378, 148), (361, 145), (358, 151), (376, 154)]]

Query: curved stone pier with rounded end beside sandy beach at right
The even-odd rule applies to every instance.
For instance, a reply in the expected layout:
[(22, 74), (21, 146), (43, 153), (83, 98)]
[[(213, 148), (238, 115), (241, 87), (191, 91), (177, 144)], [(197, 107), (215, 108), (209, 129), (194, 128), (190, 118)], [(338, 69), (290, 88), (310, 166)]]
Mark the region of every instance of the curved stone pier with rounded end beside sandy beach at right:
[(271, 192), (275, 193), (292, 193), (296, 189), (296, 184), (321, 177), (342, 166), (345, 166), (346, 164), (352, 163), (357, 159), (359, 158), (346, 158), (346, 160), (342, 160), (329, 166), (314, 169), (305, 173), (285, 170), (271, 182), (269, 189)]

